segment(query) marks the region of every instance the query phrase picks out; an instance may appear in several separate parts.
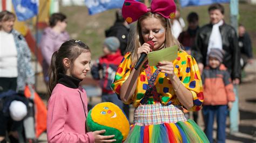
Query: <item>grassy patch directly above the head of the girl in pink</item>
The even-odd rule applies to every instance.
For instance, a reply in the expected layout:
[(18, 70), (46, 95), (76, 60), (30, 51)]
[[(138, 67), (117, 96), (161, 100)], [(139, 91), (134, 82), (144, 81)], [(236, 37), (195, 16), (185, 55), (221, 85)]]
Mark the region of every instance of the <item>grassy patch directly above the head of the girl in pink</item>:
[(67, 6), (60, 8), (60, 11), (68, 17), (67, 30), (71, 38), (85, 42), (91, 49), (92, 59), (102, 55), (105, 30), (113, 24), (115, 10), (93, 16), (89, 16), (85, 6)]

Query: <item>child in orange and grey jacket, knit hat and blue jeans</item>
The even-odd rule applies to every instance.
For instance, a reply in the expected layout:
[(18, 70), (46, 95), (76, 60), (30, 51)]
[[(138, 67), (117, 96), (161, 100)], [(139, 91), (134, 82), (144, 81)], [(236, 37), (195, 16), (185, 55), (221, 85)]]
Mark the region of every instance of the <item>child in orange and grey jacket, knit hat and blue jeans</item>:
[(211, 49), (208, 54), (208, 67), (204, 69), (201, 76), (204, 87), (205, 134), (209, 140), (213, 140), (213, 123), (216, 114), (218, 142), (225, 142), (226, 117), (228, 110), (232, 108), (232, 102), (235, 101), (230, 73), (222, 64), (223, 57), (223, 50)]

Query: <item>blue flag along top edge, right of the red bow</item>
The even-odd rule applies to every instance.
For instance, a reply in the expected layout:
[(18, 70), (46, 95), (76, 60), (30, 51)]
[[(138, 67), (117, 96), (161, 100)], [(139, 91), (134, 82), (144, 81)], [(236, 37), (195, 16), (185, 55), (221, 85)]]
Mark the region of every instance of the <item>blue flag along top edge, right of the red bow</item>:
[(208, 5), (213, 3), (229, 3), (230, 0), (179, 0), (181, 7)]

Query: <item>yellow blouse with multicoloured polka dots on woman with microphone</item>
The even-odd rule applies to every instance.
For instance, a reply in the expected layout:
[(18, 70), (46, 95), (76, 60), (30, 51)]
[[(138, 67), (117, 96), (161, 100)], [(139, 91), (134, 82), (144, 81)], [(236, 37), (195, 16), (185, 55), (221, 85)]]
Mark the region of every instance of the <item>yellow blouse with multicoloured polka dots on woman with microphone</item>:
[[(112, 84), (112, 88), (117, 93), (120, 94), (120, 88), (125, 80), (129, 77), (131, 70), (133, 69), (132, 61), (131, 61), (131, 53), (126, 53), (124, 55), (124, 59), (120, 63), (117, 69), (117, 73)], [(174, 65), (174, 73), (179, 77), (181, 83), (191, 91), (193, 95), (193, 103), (194, 106), (190, 111), (198, 111), (200, 110), (201, 105), (203, 104), (204, 95), (203, 95), (203, 85), (198, 69), (198, 65), (196, 60), (188, 55), (184, 51), (178, 51), (178, 57), (173, 61)], [(151, 66), (151, 72), (153, 73), (157, 67)], [(141, 73), (138, 77), (137, 87), (134, 92), (134, 95), (130, 99), (130, 101), (125, 104), (132, 103), (134, 107), (139, 106), (140, 101), (144, 98), (144, 94), (147, 89), (148, 81), (145, 73), (145, 67), (143, 66), (140, 70)], [(164, 73), (159, 73), (156, 81), (154, 82), (154, 86), (156, 87), (157, 93), (160, 98), (160, 103), (164, 105), (169, 104), (181, 104), (178, 101), (178, 98), (175, 94), (175, 91), (172, 88), (172, 83)], [(153, 96), (147, 98), (147, 104), (155, 104)]]

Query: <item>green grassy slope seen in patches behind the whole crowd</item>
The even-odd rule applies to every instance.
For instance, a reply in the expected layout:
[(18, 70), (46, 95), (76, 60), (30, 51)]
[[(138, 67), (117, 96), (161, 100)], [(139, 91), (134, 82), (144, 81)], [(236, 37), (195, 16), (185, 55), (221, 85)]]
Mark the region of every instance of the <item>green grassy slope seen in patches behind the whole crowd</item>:
[[(225, 6), (225, 22), (230, 23), (230, 7)], [(188, 13), (194, 11), (199, 15), (199, 24), (203, 26), (209, 22), (208, 5), (189, 6), (181, 9), (181, 16), (186, 21)], [(92, 59), (97, 59), (102, 55), (102, 44), (105, 38), (105, 30), (109, 28), (115, 20), (115, 10), (109, 10), (89, 16), (85, 6), (61, 7), (60, 12), (68, 16), (67, 30), (73, 39), (85, 42), (92, 51)], [(239, 23), (243, 24), (247, 32), (251, 35), (253, 52), (256, 55), (256, 9), (255, 5), (239, 4)], [(187, 25), (187, 23), (186, 23)]]

